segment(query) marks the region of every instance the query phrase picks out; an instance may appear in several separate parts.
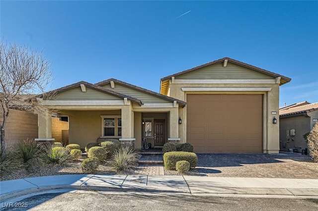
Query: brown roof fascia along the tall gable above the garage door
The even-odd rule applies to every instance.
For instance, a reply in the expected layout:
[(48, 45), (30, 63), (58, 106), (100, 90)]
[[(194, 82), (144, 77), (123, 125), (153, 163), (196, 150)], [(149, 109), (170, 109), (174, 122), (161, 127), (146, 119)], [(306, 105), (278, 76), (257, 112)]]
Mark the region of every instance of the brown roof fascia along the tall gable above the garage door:
[[(218, 60), (215, 60), (215, 61), (211, 61), (209, 63), (206, 63), (206, 64), (202, 64), (200, 66), (196, 66), (196, 67), (193, 67), (191, 69), (187, 69), (187, 70), (184, 70), (182, 72), (178, 72), (178, 73), (175, 73), (175, 74), (172, 74), (172, 75), (169, 75), (169, 76), (166, 76), (166, 77), (163, 77), (161, 78), (160, 80), (161, 81), (165, 81), (165, 80), (169, 80), (171, 79), (171, 77), (175, 77), (175, 76), (178, 76), (178, 75), (182, 75), (184, 73), (188, 73), (188, 72), (191, 72), (193, 70), (197, 70), (197, 69), (200, 69), (202, 67), (206, 67), (206, 66), (209, 66), (211, 64), (216, 64), (216, 63), (220, 63), (220, 62), (223, 62), (225, 59), (228, 59), (229, 62), (231, 63), (234, 63), (234, 64), (237, 64), (237, 65), (240, 65), (240, 66), (243, 66), (243, 67), (247, 67), (249, 69), (253, 69), (253, 70), (256, 70), (258, 72), (261, 72), (261, 73), (264, 73), (264, 74), (267, 74), (267, 75), (270, 75), (270, 76), (273, 76), (273, 77), (281, 77), (284, 81), (286, 81), (285, 83), (288, 83), (290, 82), (292, 79), (291, 78), (288, 78), (286, 76), (283, 76), (283, 75), (279, 75), (279, 74), (276, 74), (276, 73), (273, 73), (273, 72), (270, 72), (268, 70), (264, 70), (264, 69), (261, 69), (259, 67), (255, 67), (253, 65), (250, 65), (250, 64), (246, 64), (244, 62), (241, 62), (241, 61), (238, 61), (238, 60), (235, 60), (233, 58), (229, 58), (229, 57), (224, 57), (224, 58), (220, 58)], [(283, 85), (285, 84), (283, 82), (280, 83), (280, 85)]]

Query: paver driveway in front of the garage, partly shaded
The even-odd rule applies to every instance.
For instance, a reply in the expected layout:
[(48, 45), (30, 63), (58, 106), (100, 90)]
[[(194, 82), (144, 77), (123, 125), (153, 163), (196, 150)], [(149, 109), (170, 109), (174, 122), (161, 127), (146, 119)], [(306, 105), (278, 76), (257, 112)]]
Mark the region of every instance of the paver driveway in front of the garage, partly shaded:
[[(318, 179), (318, 163), (299, 154), (197, 154), (192, 174), (217, 177)], [(313, 167), (314, 166), (314, 167)]]

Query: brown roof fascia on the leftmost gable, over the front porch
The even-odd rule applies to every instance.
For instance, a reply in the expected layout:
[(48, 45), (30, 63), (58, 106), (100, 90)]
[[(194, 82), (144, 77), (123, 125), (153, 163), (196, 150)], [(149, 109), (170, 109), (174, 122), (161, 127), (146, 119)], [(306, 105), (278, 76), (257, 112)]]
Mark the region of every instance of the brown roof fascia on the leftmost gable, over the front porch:
[(62, 87), (62, 88), (59, 88), (59, 89), (44, 93), (42, 95), (38, 95), (38, 96), (36, 96), (36, 98), (43, 98), (43, 96), (45, 96), (46, 94), (60, 93), (60, 92), (66, 91), (66, 90), (70, 90), (70, 89), (73, 89), (75, 87), (79, 87), (80, 84), (84, 84), (85, 86), (87, 86), (89, 88), (92, 88), (92, 89), (95, 89), (95, 90), (98, 90), (98, 91), (101, 91), (101, 92), (105, 92), (105, 93), (108, 93), (108, 94), (116, 96), (116, 97), (127, 98), (127, 99), (139, 104), (140, 106), (143, 105), (142, 101), (137, 99), (137, 98), (133, 98), (133, 97), (130, 97), (130, 96), (127, 96), (127, 95), (123, 95), (121, 93), (118, 93), (118, 92), (115, 92), (115, 91), (112, 91), (112, 90), (109, 90), (109, 89), (106, 89), (106, 88), (103, 88), (103, 87), (100, 87), (100, 86), (97, 86), (95, 84), (91, 84), (91, 83), (88, 83), (88, 82), (85, 82), (85, 81), (79, 81), (79, 82), (77, 82), (75, 84), (71, 84), (71, 85), (68, 85), (68, 86), (65, 86), (65, 87)]

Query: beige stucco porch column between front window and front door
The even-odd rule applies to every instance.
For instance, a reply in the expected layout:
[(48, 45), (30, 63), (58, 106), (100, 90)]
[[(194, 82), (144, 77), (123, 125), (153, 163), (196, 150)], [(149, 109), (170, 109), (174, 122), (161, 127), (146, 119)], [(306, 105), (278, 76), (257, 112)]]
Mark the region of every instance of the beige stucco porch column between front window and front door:
[(131, 105), (122, 106), (121, 109), (121, 137), (122, 138), (133, 138), (132, 137), (132, 109)]

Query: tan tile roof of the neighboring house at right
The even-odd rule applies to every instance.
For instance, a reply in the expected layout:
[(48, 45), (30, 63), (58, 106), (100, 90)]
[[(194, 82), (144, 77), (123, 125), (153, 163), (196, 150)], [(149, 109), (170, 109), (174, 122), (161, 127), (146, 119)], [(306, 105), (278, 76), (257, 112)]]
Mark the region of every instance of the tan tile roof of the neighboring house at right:
[(286, 106), (279, 109), (279, 116), (287, 116), (298, 113), (309, 113), (318, 110), (318, 103), (310, 104), (307, 101)]

